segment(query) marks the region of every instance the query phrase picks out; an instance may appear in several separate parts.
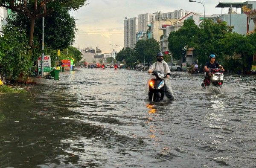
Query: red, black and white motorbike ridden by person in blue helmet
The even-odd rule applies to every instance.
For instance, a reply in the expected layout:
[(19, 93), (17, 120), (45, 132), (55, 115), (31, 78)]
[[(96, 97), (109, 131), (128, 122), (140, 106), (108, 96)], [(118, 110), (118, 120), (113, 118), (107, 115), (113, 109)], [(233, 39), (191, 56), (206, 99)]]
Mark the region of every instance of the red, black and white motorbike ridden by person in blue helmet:
[(207, 76), (207, 72), (204, 72), (204, 82), (201, 84), (203, 88), (207, 86), (215, 86), (215, 87), (222, 87), (223, 84), (223, 71), (221, 70), (222, 67), (212, 68), (210, 69), (211, 77)]

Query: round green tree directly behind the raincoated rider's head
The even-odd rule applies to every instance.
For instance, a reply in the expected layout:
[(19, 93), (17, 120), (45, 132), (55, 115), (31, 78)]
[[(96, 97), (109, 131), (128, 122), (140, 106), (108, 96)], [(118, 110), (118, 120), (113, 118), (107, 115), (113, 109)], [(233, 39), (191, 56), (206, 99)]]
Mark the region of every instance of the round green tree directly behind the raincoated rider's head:
[(138, 61), (144, 62), (145, 60), (145, 63), (149, 64), (160, 52), (160, 46), (154, 38), (139, 40), (134, 46), (134, 51)]

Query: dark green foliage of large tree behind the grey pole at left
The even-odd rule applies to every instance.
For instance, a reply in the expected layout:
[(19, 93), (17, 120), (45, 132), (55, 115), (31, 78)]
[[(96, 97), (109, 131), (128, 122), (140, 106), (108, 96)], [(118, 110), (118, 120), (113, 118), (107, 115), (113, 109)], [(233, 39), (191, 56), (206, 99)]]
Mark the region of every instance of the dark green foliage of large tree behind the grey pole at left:
[[(30, 9), (33, 3), (28, 4)], [(51, 13), (51, 17), (45, 17), (44, 27), (44, 43), (52, 49), (66, 49), (71, 46), (75, 40), (76, 22), (70, 16), (68, 9), (61, 6), (61, 3), (51, 2), (47, 3), (48, 7), (52, 7), (55, 11)], [(24, 14), (11, 13), (9, 15), (7, 26), (22, 27), (26, 30), (27, 37), (30, 35), (30, 20)], [(34, 30), (34, 46), (42, 43), (42, 19), (35, 20)]]

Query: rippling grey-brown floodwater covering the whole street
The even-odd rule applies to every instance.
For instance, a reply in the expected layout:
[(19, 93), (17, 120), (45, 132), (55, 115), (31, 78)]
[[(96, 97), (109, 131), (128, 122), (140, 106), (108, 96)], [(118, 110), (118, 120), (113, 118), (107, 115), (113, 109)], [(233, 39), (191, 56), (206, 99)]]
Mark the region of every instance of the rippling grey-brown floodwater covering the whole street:
[(77, 69), (0, 95), (1, 168), (256, 167), (256, 76), (172, 72), (175, 100), (144, 95), (147, 72)]

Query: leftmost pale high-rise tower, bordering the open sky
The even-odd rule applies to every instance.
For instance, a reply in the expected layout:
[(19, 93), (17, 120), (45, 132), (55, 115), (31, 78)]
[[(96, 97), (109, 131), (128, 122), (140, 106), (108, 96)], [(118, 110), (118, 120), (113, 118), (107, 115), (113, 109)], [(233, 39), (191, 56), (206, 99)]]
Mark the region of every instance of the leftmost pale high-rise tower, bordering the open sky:
[(138, 32), (138, 18), (124, 20), (124, 47), (134, 48)]

